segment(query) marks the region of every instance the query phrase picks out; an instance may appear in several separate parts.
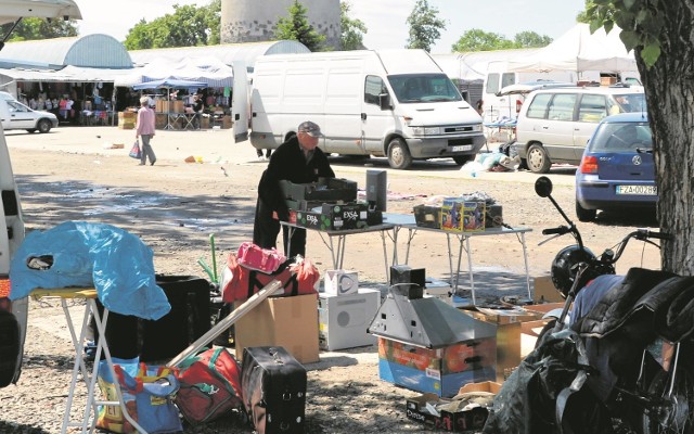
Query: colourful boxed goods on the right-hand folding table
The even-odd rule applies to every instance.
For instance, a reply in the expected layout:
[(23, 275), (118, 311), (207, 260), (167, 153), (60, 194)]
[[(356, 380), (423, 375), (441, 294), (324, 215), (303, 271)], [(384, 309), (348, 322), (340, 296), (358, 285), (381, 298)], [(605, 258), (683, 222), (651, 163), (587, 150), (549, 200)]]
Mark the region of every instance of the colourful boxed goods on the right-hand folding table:
[(416, 226), (452, 232), (479, 232), (503, 225), (502, 208), (486, 193), (440, 197), (414, 206)]

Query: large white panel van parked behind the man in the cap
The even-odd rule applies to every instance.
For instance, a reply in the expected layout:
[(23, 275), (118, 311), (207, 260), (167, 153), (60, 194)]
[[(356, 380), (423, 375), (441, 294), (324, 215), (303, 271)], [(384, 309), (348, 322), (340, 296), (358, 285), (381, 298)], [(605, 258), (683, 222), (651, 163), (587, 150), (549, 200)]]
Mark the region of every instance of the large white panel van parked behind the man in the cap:
[(481, 117), (423, 50), (334, 51), (258, 58), (250, 143), (274, 149), (312, 120), (326, 153), (462, 165), (485, 143)]

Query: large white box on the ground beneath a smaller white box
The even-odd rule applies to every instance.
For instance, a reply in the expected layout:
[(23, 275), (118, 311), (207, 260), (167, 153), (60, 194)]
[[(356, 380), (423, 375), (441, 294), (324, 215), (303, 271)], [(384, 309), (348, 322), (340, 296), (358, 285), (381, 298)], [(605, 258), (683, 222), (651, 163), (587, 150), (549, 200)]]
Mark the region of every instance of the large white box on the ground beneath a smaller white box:
[(318, 345), (336, 350), (373, 345), (367, 333), (381, 306), (381, 291), (362, 288), (357, 294), (321, 293), (318, 297)]

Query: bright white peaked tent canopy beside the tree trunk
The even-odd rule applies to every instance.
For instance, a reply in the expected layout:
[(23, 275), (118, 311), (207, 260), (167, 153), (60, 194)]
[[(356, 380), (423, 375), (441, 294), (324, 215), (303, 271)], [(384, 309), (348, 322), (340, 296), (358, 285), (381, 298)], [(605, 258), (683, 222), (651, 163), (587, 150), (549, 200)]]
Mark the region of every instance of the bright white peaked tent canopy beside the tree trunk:
[(603, 28), (599, 28), (591, 35), (588, 24), (577, 24), (537, 53), (509, 61), (509, 71), (638, 71), (633, 51), (627, 52), (619, 39), (620, 31), (615, 27), (605, 34)]

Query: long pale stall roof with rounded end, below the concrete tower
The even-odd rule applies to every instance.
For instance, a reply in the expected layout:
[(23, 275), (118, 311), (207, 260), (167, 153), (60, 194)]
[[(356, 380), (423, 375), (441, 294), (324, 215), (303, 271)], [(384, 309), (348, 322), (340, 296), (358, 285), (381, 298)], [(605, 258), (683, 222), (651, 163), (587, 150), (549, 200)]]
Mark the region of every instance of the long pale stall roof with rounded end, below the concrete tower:
[(294, 40), (279, 40), (249, 43), (223, 43), (219, 46), (162, 48), (151, 50), (130, 51), (130, 58), (136, 65), (146, 65), (155, 59), (167, 59), (180, 62), (192, 58), (215, 58), (226, 65), (242, 62), (246, 68), (253, 71), (256, 58), (267, 54), (308, 53), (310, 50), (301, 42)]

